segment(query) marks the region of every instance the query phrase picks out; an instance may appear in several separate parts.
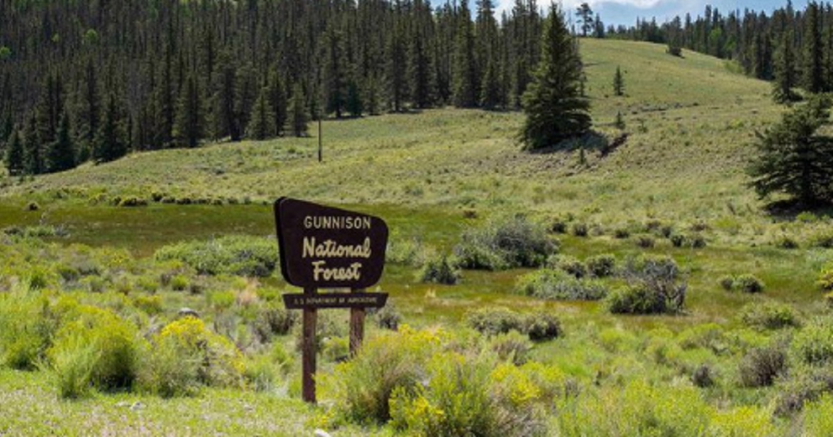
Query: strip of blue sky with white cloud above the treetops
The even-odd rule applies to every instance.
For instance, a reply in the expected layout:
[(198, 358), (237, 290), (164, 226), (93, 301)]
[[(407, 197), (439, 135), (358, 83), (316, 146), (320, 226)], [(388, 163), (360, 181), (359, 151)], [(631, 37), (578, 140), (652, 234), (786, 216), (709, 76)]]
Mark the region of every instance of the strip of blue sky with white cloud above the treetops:
[[(722, 14), (728, 14), (733, 10), (740, 10), (748, 8), (755, 11), (764, 11), (767, 15), (779, 7), (786, 5), (786, 0), (555, 0), (556, 4), (561, 3), (567, 12), (575, 12), (576, 6), (582, 2), (590, 4), (593, 12), (601, 15), (601, 21), (605, 26), (610, 24), (618, 26), (624, 24), (626, 26), (633, 26), (636, 24), (637, 17), (651, 19), (656, 17), (656, 22), (662, 23), (666, 20), (679, 15), (685, 17), (686, 12), (691, 13), (691, 17), (702, 15), (706, 10), (706, 5), (711, 4), (712, 7), (717, 7)], [(515, 0), (496, 0), (498, 11), (511, 10), (512, 4)], [(549, 7), (549, 0), (538, 0), (538, 4), (543, 7)], [(806, 6), (806, 0), (793, 0), (793, 5), (796, 9), (803, 9)]]

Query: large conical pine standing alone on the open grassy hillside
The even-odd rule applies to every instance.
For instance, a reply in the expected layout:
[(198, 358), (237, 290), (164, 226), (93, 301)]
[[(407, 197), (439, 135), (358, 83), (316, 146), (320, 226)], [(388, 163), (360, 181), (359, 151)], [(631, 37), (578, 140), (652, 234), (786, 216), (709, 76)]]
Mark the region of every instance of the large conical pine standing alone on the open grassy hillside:
[(590, 129), (590, 104), (580, 97), (581, 57), (555, 5), (546, 18), (541, 62), (524, 93), (526, 120), (520, 140), (527, 150), (556, 146)]

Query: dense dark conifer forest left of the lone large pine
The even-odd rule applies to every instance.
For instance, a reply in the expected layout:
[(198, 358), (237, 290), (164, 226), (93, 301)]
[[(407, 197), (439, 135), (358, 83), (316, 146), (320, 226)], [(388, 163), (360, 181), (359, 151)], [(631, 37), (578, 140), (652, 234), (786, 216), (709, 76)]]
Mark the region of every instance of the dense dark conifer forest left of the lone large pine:
[(541, 22), (536, 0), (0, 2), (0, 141), (37, 174), (316, 117), (518, 108)]

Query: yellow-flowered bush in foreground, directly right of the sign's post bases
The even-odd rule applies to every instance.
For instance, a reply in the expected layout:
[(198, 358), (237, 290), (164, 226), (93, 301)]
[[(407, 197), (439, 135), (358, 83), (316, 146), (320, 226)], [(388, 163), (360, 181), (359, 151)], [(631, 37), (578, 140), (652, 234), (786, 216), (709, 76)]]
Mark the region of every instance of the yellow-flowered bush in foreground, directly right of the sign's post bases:
[(439, 350), (439, 337), (403, 328), (374, 337), (352, 360), (322, 377), (322, 395), (335, 402), (337, 415), (358, 424), (383, 424), (391, 418), (395, 390), (415, 390), (426, 378), (426, 364)]

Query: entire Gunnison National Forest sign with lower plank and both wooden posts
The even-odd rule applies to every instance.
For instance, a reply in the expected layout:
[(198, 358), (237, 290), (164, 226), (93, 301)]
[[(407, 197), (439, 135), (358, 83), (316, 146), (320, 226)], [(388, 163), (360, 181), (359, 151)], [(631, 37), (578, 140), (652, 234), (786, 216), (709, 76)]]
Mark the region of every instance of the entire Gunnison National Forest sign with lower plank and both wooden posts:
[(315, 403), (317, 311), (350, 308), (350, 355), (356, 355), (367, 308), (387, 303), (387, 293), (365, 291), (382, 277), (387, 225), (375, 216), (287, 197), (275, 202), (275, 223), (283, 278), (304, 289), (283, 295), (283, 302), (287, 310), (303, 310), (302, 395)]

